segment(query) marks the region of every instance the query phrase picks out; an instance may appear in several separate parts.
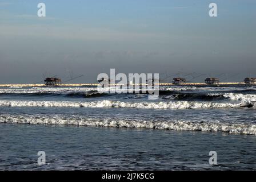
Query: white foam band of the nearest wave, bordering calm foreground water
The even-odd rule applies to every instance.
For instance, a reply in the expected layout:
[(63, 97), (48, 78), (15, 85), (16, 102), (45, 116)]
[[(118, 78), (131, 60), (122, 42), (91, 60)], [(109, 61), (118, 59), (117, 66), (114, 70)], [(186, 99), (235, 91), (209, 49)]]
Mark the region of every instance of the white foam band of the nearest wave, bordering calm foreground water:
[(146, 129), (166, 129), (184, 131), (212, 131), (232, 134), (256, 135), (254, 123), (226, 123), (226, 122), (187, 122), (187, 121), (142, 121), (117, 118), (82, 118), (42, 115), (0, 115), (2, 123), (102, 126), (102, 127), (135, 127)]

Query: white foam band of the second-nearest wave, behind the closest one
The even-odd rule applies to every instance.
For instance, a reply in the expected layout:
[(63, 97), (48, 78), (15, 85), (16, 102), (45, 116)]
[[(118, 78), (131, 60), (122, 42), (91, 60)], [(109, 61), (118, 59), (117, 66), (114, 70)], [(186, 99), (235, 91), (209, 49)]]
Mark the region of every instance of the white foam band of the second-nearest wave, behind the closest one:
[[(121, 101), (0, 101), (0, 106), (10, 107), (123, 107), (136, 109), (200, 109), (200, 108), (238, 108), (247, 106), (247, 103), (218, 103), (218, 102), (189, 102), (189, 101), (170, 101), (170, 102), (121, 102)], [(255, 107), (255, 104), (253, 105)]]

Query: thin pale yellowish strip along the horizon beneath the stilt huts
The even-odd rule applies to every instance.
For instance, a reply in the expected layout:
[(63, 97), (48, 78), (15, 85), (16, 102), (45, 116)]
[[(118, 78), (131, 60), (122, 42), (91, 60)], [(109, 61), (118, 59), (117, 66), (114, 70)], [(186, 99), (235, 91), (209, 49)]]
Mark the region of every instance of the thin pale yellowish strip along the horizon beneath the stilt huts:
[[(59, 86), (98, 86), (99, 84), (62, 84)], [(111, 84), (110, 84), (111, 85)], [(160, 86), (164, 86), (164, 85), (175, 85), (172, 83), (159, 83)], [(194, 82), (194, 83), (183, 83), (183, 84), (179, 84), (179, 86), (181, 85), (207, 85), (205, 83), (198, 83), (198, 82)], [(218, 85), (246, 85), (244, 82), (220, 82)], [(45, 84), (0, 84), (1, 87), (22, 87), (22, 86), (46, 86)]]

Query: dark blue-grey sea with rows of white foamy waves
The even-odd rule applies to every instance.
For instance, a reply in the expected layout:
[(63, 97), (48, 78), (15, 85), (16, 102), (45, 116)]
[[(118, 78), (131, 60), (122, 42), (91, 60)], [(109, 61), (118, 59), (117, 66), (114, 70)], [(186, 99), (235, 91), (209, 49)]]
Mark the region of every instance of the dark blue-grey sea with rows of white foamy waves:
[(0, 169), (256, 169), (256, 86), (161, 86), (159, 94), (2, 87)]

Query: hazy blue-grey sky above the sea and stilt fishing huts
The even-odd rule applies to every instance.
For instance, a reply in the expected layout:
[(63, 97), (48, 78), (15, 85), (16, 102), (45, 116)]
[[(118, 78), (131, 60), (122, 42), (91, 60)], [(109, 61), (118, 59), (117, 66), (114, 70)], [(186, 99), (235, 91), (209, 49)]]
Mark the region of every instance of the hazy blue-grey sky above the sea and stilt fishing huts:
[[(37, 15), (42, 2), (46, 17)], [(256, 77), (255, 8), (254, 0), (0, 0), (0, 84), (95, 82), (110, 68)]]

